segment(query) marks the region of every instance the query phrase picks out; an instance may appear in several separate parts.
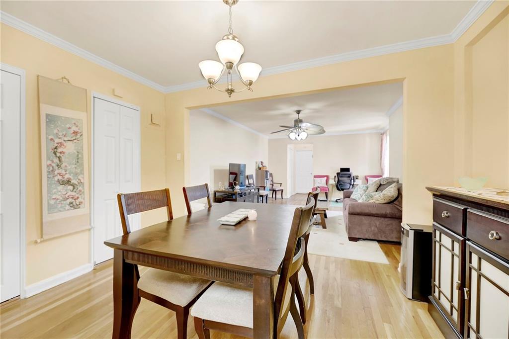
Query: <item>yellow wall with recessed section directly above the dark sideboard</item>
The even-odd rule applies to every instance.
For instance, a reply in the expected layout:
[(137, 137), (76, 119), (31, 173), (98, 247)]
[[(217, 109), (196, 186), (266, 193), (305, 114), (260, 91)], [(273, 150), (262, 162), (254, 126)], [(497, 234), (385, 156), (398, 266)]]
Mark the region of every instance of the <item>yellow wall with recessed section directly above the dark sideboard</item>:
[(455, 47), (455, 179), (509, 187), (509, 2), (495, 2)]

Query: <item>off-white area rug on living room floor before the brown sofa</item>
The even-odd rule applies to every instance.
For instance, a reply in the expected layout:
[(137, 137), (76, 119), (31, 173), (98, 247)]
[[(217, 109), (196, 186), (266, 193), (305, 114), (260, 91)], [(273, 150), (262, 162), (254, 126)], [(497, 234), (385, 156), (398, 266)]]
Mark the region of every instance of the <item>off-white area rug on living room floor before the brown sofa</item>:
[(321, 225), (315, 225), (309, 235), (309, 244), (307, 245), (309, 254), (380, 264), (389, 263), (378, 242), (348, 240), (342, 212), (327, 211), (327, 216), (328, 218), (325, 219), (327, 229), (322, 229)]

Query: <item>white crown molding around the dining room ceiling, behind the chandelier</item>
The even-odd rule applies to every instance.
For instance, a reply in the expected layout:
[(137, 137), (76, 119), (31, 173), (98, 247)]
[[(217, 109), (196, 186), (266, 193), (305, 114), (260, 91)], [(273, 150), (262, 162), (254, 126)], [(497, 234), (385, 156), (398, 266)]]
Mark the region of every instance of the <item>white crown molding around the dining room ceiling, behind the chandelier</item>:
[[(323, 58), (317, 58), (307, 61), (296, 62), (287, 65), (280, 65), (274, 67), (268, 67), (262, 70), (261, 76), (265, 75), (274, 75), (285, 72), (292, 72), (303, 70), (307, 68), (314, 68), (320, 66), (326, 66), (346, 61), (352, 61), (357, 59), (370, 58), (372, 56), (390, 54), (408, 51), (412, 49), (433, 47), (439, 45), (445, 45), (454, 43), (458, 40), (463, 33), (477, 20), (477, 18), (482, 15), (488, 7), (494, 2), (494, 0), (478, 0), (477, 3), (470, 9), (467, 15), (460, 21), (460, 23), (455, 27), (453, 32), (445, 35), (440, 35), (436, 37), (423, 38), (411, 41), (405, 41), (385, 46), (379, 46), (374, 48), (368, 48), (363, 50), (351, 51), (341, 54), (335, 54), (330, 56), (324, 56)], [(0, 22), (3, 22), (15, 29), (22, 31), (24, 33), (30, 34), (40, 40), (48, 42), (56, 47), (60, 47), (68, 52), (71, 52), (75, 55), (80, 56), (83, 59), (89, 60), (95, 64), (98, 64), (102, 67), (105, 67), (109, 70), (117, 72), (121, 75), (124, 75), (132, 80), (135, 80), (139, 83), (145, 84), (148, 87), (151, 87), (159, 92), (163, 93), (174, 93), (180, 91), (186, 91), (197, 88), (206, 88), (207, 82), (204, 80), (193, 81), (182, 83), (174, 86), (162, 86), (152, 80), (149, 80), (143, 76), (140, 76), (136, 73), (133, 73), (121, 66), (118, 66), (114, 63), (111, 63), (107, 60), (100, 58), (93, 53), (90, 53), (76, 45), (73, 45), (65, 40), (62, 40), (54, 35), (45, 32), (37, 27), (31, 25), (30, 23), (24, 22), (6, 12), (0, 11)], [(233, 76), (233, 81), (239, 80), (238, 75)], [(219, 83), (223, 83), (225, 80), (219, 81)]]

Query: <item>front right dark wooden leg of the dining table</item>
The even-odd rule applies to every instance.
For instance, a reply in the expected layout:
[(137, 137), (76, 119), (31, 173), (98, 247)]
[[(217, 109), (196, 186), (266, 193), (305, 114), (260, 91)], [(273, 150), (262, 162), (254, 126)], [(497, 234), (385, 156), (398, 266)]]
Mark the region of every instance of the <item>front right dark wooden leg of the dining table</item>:
[(277, 337), (274, 328), (274, 286), (271, 277), (253, 276), (253, 338)]

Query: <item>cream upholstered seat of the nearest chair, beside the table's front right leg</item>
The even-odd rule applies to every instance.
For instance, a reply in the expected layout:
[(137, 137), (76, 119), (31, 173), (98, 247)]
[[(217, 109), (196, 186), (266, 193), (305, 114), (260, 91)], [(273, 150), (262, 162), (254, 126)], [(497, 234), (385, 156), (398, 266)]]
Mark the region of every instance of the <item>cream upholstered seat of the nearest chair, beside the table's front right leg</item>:
[[(279, 276), (274, 279), (274, 295)], [(290, 304), (292, 287), (288, 285), (283, 308)], [(253, 290), (225, 283), (213, 284), (191, 308), (191, 316), (218, 323), (253, 328)]]

